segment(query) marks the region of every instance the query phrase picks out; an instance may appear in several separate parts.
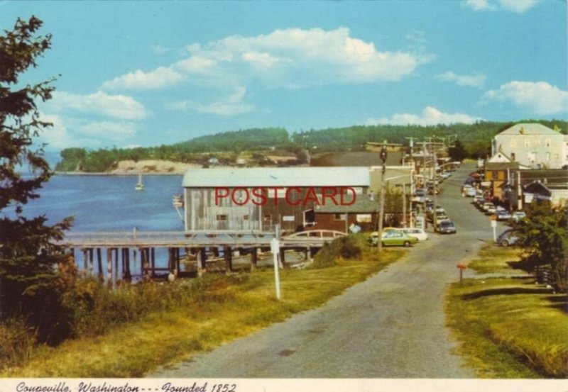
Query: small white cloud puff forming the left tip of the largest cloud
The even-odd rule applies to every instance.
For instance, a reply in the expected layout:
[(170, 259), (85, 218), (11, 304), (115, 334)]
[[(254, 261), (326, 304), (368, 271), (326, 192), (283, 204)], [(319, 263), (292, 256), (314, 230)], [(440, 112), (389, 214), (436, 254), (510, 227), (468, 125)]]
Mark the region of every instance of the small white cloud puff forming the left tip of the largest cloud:
[(185, 79), (183, 74), (175, 71), (171, 67), (158, 67), (150, 72), (143, 72), (136, 69), (121, 77), (115, 77), (112, 80), (102, 84), (103, 89), (161, 89), (166, 86), (172, 86)]

